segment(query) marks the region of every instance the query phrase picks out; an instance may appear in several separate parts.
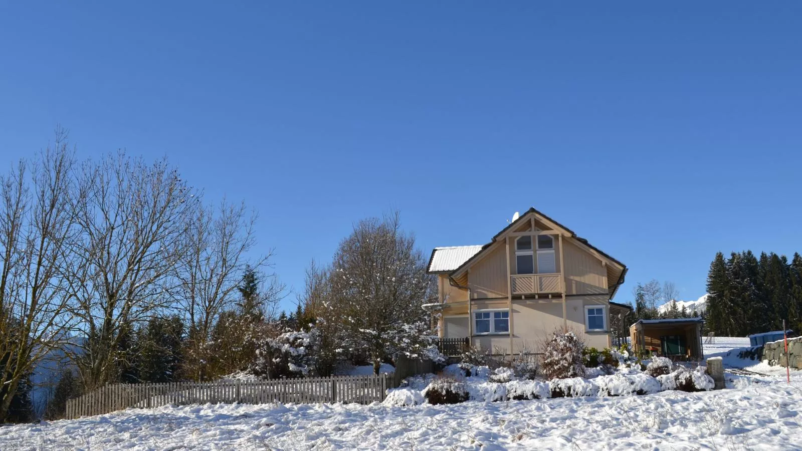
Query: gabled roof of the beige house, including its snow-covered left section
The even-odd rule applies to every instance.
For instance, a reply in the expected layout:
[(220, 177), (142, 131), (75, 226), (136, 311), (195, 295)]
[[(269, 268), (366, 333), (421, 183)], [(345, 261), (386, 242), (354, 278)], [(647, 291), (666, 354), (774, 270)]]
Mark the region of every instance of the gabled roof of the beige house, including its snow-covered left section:
[[(528, 209), (525, 213), (521, 214), (515, 221), (512, 221), (506, 227), (504, 227), (504, 229), (500, 230), (499, 233), (497, 233), (496, 235), (493, 236), (492, 241), (489, 242), (488, 244), (486, 244), (484, 246), (457, 246), (456, 248), (459, 248), (459, 247), (477, 248), (478, 247), (479, 250), (476, 250), (475, 253), (473, 253), (471, 255), (468, 255), (467, 258), (465, 258), (460, 264), (458, 264), (453, 269), (440, 269), (440, 270), (433, 270), (432, 269), (432, 263), (434, 262), (435, 254), (437, 254), (437, 252), (439, 250), (456, 249), (456, 248), (435, 248), (435, 250), (433, 250), (431, 252), (431, 259), (429, 261), (429, 270), (428, 270), (428, 272), (430, 272), (430, 273), (450, 273), (454, 277), (458, 276), (460, 273), (464, 273), (464, 270), (466, 270), (469, 266), (471, 266), (473, 264), (473, 262), (476, 262), (477, 260), (482, 258), (485, 254), (487, 254), (489, 248), (491, 248), (493, 246), (493, 244), (495, 244), (497, 242), (501, 242), (501, 240), (499, 238), (502, 235), (504, 235), (505, 232), (508, 232), (509, 230), (514, 230), (514, 228), (516, 226), (522, 225), (522, 224), (525, 223), (525, 221), (528, 221), (529, 217), (530, 217), (530, 214), (535, 214), (535, 215), (541, 217), (542, 219), (544, 219), (545, 221), (551, 222), (553, 224), (553, 228), (554, 229), (559, 230), (561, 232), (561, 234), (564, 234), (566, 237), (573, 238), (573, 240), (576, 240), (576, 242), (579, 244), (579, 246), (586, 246), (587, 249), (592, 250), (591, 252), (596, 252), (598, 255), (601, 255), (603, 257), (602, 261), (604, 259), (606, 259), (606, 260), (609, 260), (610, 262), (612, 262), (614, 264), (614, 266), (620, 266), (620, 268), (615, 268), (614, 266), (610, 266), (610, 265), (607, 266), (608, 278), (611, 277), (613, 280), (615, 280), (615, 282), (612, 284), (612, 286), (610, 286), (610, 299), (613, 299), (613, 297), (615, 296), (616, 292), (618, 291), (618, 287), (621, 286), (622, 283), (624, 282), (624, 278), (626, 277), (626, 272), (629, 270), (629, 268), (627, 268), (626, 265), (623, 264), (622, 262), (619, 262), (617, 259), (615, 259), (612, 256), (610, 256), (610, 254), (606, 254), (606, 252), (603, 252), (602, 250), (598, 249), (596, 246), (591, 245), (588, 242), (588, 240), (586, 240), (585, 238), (578, 237), (577, 234), (573, 232), (573, 230), (570, 230), (568, 227), (565, 227), (565, 225), (562, 225), (559, 222), (554, 221), (551, 217), (546, 216), (544, 213), (538, 211), (534, 207)], [(458, 261), (459, 261), (458, 258), (454, 258), (452, 260), (452, 263), (453, 262), (458, 262)], [(451, 266), (453, 266), (453, 265), (442, 265), (442, 266), (437, 265), (435, 267), (437, 267), (437, 268), (448, 268), (448, 267), (451, 267)]]

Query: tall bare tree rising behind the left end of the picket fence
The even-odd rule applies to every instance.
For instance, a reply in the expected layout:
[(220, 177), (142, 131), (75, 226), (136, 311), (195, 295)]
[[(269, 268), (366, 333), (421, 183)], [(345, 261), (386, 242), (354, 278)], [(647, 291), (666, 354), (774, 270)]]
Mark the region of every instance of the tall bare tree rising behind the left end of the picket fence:
[(83, 165), (67, 278), (70, 312), (87, 337), (77, 359), (85, 388), (112, 380), (126, 357), (120, 339), (168, 307), (164, 286), (186, 254), (187, 218), (197, 204), (166, 160), (146, 165), (119, 152)]

